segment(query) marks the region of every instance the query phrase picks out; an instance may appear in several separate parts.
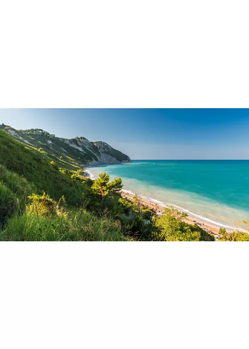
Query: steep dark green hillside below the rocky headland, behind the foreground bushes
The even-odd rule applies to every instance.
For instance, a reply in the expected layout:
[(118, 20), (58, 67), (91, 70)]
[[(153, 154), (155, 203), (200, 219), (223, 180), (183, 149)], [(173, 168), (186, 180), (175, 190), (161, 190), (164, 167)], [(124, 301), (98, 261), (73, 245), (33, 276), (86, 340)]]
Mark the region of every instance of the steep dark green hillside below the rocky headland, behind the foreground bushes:
[[(38, 193), (46, 191), (55, 200), (59, 200), (64, 195), (69, 205), (81, 204), (82, 194), (87, 191), (87, 188), (54, 169), (49, 164), (49, 160), (51, 161), (52, 158), (30, 146), (24, 146), (0, 130), (0, 165), (25, 177), (33, 188), (37, 188)], [(65, 164), (58, 159), (56, 163), (66, 168)]]

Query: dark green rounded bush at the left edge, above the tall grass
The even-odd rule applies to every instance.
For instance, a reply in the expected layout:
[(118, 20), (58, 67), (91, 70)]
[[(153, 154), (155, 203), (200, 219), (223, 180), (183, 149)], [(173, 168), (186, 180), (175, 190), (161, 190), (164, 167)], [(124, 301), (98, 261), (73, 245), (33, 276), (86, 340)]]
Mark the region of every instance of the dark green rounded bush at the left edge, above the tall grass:
[(0, 181), (0, 227), (17, 211), (17, 197)]

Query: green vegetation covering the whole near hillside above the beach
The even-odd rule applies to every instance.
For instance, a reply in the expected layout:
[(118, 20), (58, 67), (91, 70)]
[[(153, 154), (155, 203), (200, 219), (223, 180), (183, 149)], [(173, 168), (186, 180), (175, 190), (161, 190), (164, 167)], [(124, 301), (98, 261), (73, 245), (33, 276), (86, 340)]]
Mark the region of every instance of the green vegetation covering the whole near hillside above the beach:
[[(96, 180), (84, 177), (76, 164), (0, 130), (0, 240), (215, 240), (185, 223), (186, 214), (174, 208), (157, 216), (138, 197), (124, 198), (122, 187), (121, 178), (110, 181), (106, 173)], [(249, 241), (249, 235), (221, 230), (219, 239)]]

